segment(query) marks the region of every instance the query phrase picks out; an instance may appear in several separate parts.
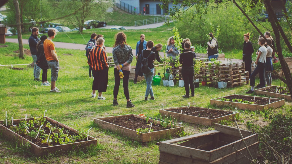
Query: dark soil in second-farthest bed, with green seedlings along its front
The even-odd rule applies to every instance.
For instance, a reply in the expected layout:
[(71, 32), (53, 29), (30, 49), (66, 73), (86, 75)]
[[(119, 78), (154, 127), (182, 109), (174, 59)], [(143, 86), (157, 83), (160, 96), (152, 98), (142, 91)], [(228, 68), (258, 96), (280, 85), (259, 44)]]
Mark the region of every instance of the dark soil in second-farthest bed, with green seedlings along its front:
[[(254, 102), (254, 104), (256, 104), (256, 105), (269, 104), (269, 99), (257, 98), (256, 97), (256, 100), (254, 100), (253, 97), (247, 97), (247, 96), (243, 96), (243, 95), (231, 95), (231, 96), (224, 97), (224, 98), (225, 99), (230, 99), (229, 102), (239, 102), (238, 99), (242, 99), (242, 101)], [(232, 99), (237, 99), (237, 100), (232, 101)], [(220, 100), (220, 99), (217, 99), (217, 100)], [(272, 103), (272, 102), (276, 102), (276, 101), (271, 99), (270, 103)], [(248, 103), (243, 103), (243, 104), (248, 104)]]

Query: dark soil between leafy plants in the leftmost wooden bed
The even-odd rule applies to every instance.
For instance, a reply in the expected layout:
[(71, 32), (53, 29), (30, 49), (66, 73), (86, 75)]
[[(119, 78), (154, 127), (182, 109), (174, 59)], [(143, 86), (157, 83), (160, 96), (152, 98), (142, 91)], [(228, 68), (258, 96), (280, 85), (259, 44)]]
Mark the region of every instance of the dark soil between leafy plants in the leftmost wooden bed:
[[(52, 123), (52, 122), (50, 122), (50, 121), (45, 121), (44, 126), (41, 128), (41, 130), (44, 130), (44, 131), (45, 131), (45, 134), (47, 134), (47, 135), (49, 135), (49, 133), (50, 133), (50, 129), (49, 129), (48, 127), (46, 127), (47, 122), (49, 122), (53, 127), (56, 127), (56, 128), (57, 128), (57, 131), (55, 131), (55, 133), (59, 133), (59, 131), (58, 131), (59, 128), (62, 129), (62, 127), (59, 126), (59, 125), (57, 125), (57, 124), (54, 124), (54, 123)], [(2, 123), (2, 125), (3, 125), (3, 126), (6, 126), (5, 121)], [(19, 132), (17, 132), (17, 131), (15, 130), (15, 129), (18, 128), (19, 123), (14, 123), (14, 125), (16, 125), (16, 127), (13, 127), (12, 125), (7, 125), (6, 128), (8, 128), (8, 129), (12, 130), (13, 132), (15, 132), (15, 133), (21, 135), (21, 136), (24, 137), (25, 139), (27, 139), (27, 140), (33, 142), (34, 144), (36, 144), (36, 145), (38, 145), (38, 146), (40, 146), (40, 147), (48, 147), (48, 146), (49, 146), (47, 143), (42, 143), (43, 140), (40, 139), (40, 134), (39, 134), (39, 136), (38, 136), (37, 139), (32, 140), (28, 135), (23, 134), (23, 133), (20, 134)], [(35, 129), (39, 129), (39, 127), (40, 127), (39, 125), (34, 125), (34, 128), (35, 128)], [(32, 129), (29, 129), (29, 131), (31, 131), (31, 130), (32, 130)], [(36, 131), (36, 130), (35, 130), (35, 131)], [(36, 131), (36, 132), (38, 132), (38, 131)], [(73, 136), (73, 135), (78, 136), (78, 135), (79, 135), (79, 134), (77, 134), (77, 133), (75, 133), (75, 132), (72, 132), (72, 131), (69, 130), (69, 129), (66, 129), (66, 128), (64, 128), (63, 133), (64, 133), (64, 134), (67, 134), (67, 135), (71, 135), (71, 136)], [(54, 132), (53, 132), (53, 131), (51, 132), (51, 135), (54, 135)], [(60, 137), (60, 136), (59, 136), (59, 137)], [(62, 138), (64, 138), (64, 140), (65, 140), (65, 137), (62, 137)], [(44, 138), (43, 138), (43, 139), (44, 139)], [(52, 139), (53, 139), (53, 137), (52, 137)], [(83, 139), (83, 140), (76, 140), (75, 142), (81, 142), (81, 141), (86, 141), (86, 140), (87, 140), (87, 138), (85, 138), (85, 139)], [(91, 140), (91, 139), (88, 138), (88, 140)], [(74, 142), (73, 142), (73, 143), (74, 143)], [(56, 146), (56, 145), (60, 145), (59, 142), (55, 142), (55, 141), (51, 142), (51, 146)]]

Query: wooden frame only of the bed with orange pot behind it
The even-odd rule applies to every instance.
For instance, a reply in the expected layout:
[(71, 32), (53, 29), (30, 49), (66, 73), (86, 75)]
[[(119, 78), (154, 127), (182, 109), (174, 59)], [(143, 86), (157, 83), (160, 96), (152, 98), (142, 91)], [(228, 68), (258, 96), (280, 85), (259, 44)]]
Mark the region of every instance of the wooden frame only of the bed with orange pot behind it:
[[(136, 118), (141, 118), (143, 120), (146, 120), (145, 117), (138, 116), (135, 114), (126, 114), (126, 115), (120, 115), (120, 116), (111, 116), (111, 117), (102, 117), (102, 118), (94, 118), (94, 123), (98, 124), (100, 128), (102, 129), (107, 129), (111, 130), (113, 132), (118, 132), (121, 135), (127, 136), (129, 138), (135, 139), (140, 142), (149, 142), (149, 141), (154, 141), (161, 139), (166, 136), (175, 136), (179, 132), (182, 132), (184, 127), (179, 126), (179, 125), (174, 125), (175, 128), (171, 129), (165, 129), (165, 130), (159, 130), (159, 131), (154, 131), (154, 132), (147, 132), (147, 133), (141, 133), (137, 134), (136, 130), (132, 130), (129, 128), (125, 128), (123, 126), (119, 126), (113, 123), (107, 122), (107, 120), (112, 119), (112, 118), (119, 118), (122, 116), (134, 116)], [(149, 118), (150, 122), (153, 122), (152, 119)], [(160, 121), (157, 121), (157, 124), (160, 124)]]

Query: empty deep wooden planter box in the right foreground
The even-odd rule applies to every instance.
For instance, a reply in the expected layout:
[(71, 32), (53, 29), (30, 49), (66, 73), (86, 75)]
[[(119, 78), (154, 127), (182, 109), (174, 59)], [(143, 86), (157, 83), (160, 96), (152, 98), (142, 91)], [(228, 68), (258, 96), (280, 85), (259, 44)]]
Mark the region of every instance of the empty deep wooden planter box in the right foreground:
[[(258, 134), (241, 130), (256, 158)], [(159, 164), (247, 164), (251, 158), (237, 128), (215, 125), (215, 130), (159, 142)], [(238, 151), (239, 152), (238, 152)], [(246, 157), (248, 158), (246, 158)]]

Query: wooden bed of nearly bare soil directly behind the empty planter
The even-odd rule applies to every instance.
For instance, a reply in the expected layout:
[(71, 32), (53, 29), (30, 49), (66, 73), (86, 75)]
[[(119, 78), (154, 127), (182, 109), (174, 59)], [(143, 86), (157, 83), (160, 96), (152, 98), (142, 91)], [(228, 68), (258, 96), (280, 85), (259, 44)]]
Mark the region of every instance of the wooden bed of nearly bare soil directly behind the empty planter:
[(212, 126), (213, 123), (218, 123), (224, 119), (233, 120), (239, 112), (225, 111), (219, 109), (208, 109), (201, 107), (176, 107), (168, 109), (160, 109), (162, 116), (173, 116), (174, 118), (201, 125)]

